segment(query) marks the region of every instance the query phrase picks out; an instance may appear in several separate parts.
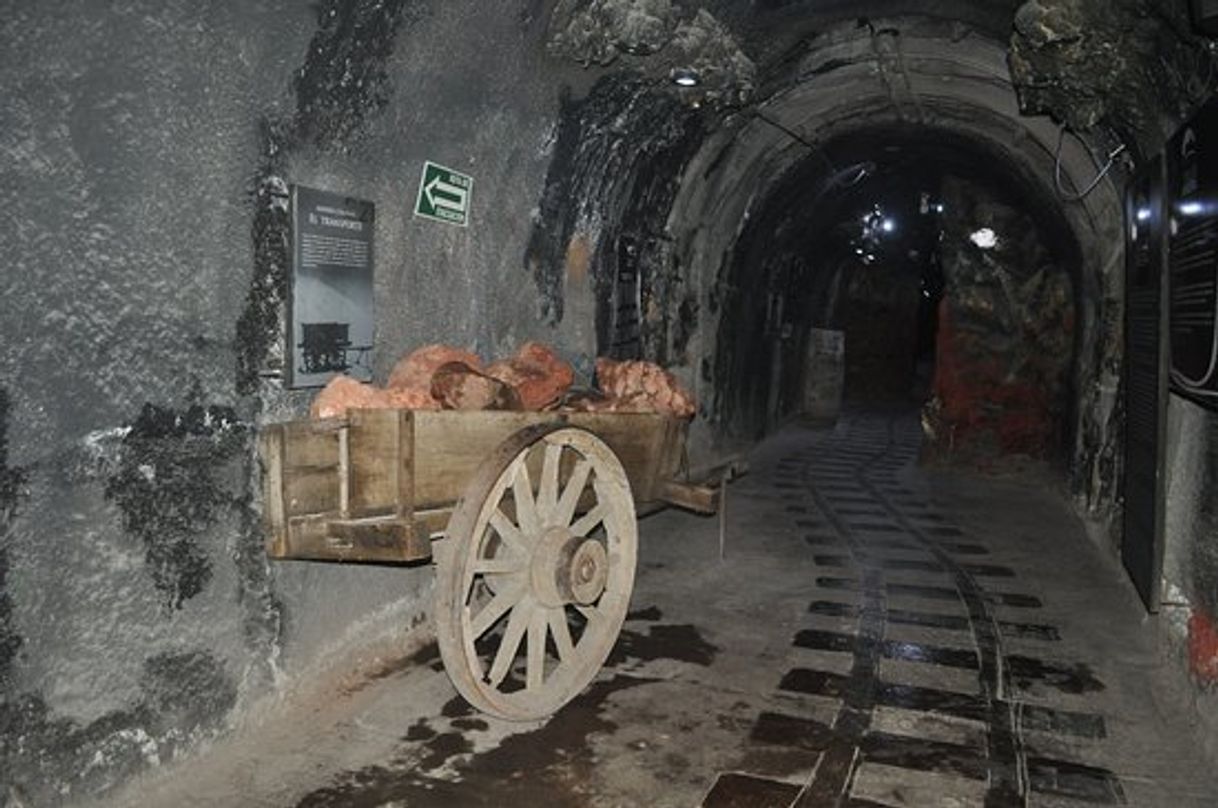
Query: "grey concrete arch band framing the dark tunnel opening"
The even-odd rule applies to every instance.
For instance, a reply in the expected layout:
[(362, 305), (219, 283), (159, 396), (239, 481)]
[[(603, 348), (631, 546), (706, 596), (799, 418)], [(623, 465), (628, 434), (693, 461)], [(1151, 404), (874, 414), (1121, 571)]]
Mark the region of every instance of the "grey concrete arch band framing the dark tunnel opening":
[[(1049, 118), (1021, 113), (1006, 41), (942, 18), (872, 17), (866, 24), (849, 19), (823, 28), (793, 52), (793, 58), (776, 60), (772, 73), (759, 69), (755, 111), (730, 113), (708, 136), (683, 174), (667, 219), (680, 264), (700, 269), (708, 308), (715, 308), (722, 284), (737, 283), (728, 273), (741, 234), (767, 200), (783, 199), (793, 178), (815, 186), (832, 168), (882, 162), (883, 155), (868, 157), (867, 149), (882, 150), (884, 141), (905, 140), (917, 152), (921, 139), (922, 154), (929, 155), (927, 141), (948, 133), (935, 147), (944, 162), (951, 160), (946, 151), (952, 143), (968, 144), (956, 150), (961, 168), (972, 166), (980, 175), (985, 172), (978, 162), (993, 161), (989, 184), (1013, 185), (1022, 207), (1041, 213), (1046, 234), (1071, 256), (1065, 263), (1079, 302), (1074, 384), (1080, 399), (1072, 409), (1078, 419), (1107, 422), (1111, 412), (1099, 401), (1100, 391), (1116, 386), (1113, 357), (1121, 350), (1114, 322), (1104, 314), (1105, 301), (1119, 296), (1118, 191), (1101, 183), (1079, 202), (1058, 197), (1054, 174), (1061, 130)], [(1093, 150), (1104, 154), (1100, 145), (1073, 136), (1062, 141), (1067, 189), (1085, 188), (1095, 178)], [(702, 353), (714, 355), (716, 325), (704, 324), (699, 338)], [(699, 375), (709, 397), (719, 383), (705, 369)], [(1089, 429), (1083, 423), (1069, 429), (1084, 474), (1090, 462), (1080, 436)]]

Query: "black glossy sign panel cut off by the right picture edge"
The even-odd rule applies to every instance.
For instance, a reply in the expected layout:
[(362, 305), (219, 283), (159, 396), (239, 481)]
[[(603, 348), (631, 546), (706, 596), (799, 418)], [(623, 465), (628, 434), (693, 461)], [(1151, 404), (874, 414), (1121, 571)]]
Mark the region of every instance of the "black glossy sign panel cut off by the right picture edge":
[(1218, 408), (1218, 104), (1168, 144), (1172, 389)]

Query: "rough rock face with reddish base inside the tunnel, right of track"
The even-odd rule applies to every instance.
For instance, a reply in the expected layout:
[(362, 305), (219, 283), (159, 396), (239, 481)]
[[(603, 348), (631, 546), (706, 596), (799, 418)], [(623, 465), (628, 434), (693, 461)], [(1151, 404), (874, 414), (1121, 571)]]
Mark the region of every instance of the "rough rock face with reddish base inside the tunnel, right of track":
[(991, 191), (943, 188), (946, 280), (926, 451), (937, 459), (1066, 459), (1075, 307), (1044, 234)]

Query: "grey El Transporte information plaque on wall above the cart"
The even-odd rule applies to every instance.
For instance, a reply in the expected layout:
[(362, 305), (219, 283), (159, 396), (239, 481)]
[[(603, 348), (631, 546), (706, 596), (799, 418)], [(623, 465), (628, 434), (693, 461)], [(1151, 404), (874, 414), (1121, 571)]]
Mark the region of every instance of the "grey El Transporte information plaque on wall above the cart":
[(371, 379), (375, 206), (292, 186), (291, 388)]

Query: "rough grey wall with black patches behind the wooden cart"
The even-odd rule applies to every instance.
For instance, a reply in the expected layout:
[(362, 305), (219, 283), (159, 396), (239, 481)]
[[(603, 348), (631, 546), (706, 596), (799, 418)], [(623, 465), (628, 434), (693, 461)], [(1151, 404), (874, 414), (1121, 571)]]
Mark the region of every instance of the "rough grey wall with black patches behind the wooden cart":
[[(429, 569), (263, 553), (253, 438), (309, 399), (280, 385), (290, 184), (378, 206), (380, 380), (435, 340), (594, 352), (521, 262), (565, 68), (542, 4), (471, 9), (0, 19), (0, 802), (102, 793), (426, 613)], [(412, 217), (429, 158), (474, 175), (470, 227)]]

